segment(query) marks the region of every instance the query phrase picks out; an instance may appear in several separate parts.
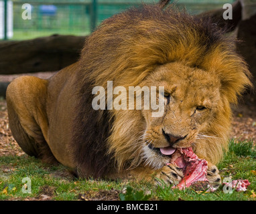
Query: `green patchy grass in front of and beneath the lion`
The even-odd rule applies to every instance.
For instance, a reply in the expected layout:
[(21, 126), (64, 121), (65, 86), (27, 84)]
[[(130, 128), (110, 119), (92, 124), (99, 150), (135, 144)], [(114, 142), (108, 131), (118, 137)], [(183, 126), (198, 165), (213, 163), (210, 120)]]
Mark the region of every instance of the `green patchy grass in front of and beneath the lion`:
[[(170, 186), (153, 187), (145, 182), (76, 179), (62, 165), (49, 166), (27, 155), (1, 156), (0, 200), (197, 200), (237, 201), (256, 200), (256, 148), (253, 142), (230, 142), (230, 150), (218, 164), (220, 175), (231, 179), (248, 179), (245, 192), (224, 193), (220, 187), (214, 193), (183, 191)], [(31, 193), (27, 181), (31, 180)], [(126, 189), (126, 193), (123, 190)]]

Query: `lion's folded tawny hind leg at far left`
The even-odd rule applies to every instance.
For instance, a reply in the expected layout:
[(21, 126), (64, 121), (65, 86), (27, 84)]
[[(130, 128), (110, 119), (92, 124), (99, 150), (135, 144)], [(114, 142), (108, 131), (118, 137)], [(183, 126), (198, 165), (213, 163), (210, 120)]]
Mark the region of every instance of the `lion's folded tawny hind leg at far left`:
[[(7, 110), (13, 137), (30, 156), (54, 160), (47, 144), (47, 80), (23, 76), (7, 88)], [(47, 161), (47, 162), (50, 162)]]

